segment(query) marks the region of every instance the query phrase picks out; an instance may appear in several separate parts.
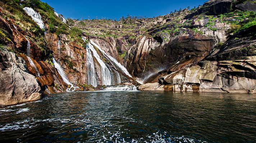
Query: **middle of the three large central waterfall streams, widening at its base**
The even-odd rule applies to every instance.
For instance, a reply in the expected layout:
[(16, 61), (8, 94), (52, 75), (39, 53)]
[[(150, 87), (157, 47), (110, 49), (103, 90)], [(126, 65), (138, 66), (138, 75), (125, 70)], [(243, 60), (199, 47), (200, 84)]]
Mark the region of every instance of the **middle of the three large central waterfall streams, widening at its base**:
[(101, 66), (101, 79), (102, 79), (102, 85), (112, 85), (113, 84), (113, 73), (111, 70), (109, 70), (108, 66), (100, 59), (100, 55), (97, 53), (97, 51), (94, 49), (92, 44), (87, 45), (88, 49), (92, 51), (93, 56), (95, 59), (99, 62)]

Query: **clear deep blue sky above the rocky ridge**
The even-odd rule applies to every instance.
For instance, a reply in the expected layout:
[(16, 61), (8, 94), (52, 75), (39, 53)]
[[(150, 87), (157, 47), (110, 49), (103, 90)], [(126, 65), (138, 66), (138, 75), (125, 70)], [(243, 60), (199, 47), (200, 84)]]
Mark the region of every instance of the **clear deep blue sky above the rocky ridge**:
[(41, 0), (52, 6), (65, 18), (95, 19), (109, 18), (119, 20), (127, 14), (148, 18), (165, 15), (180, 8), (202, 5), (206, 0)]

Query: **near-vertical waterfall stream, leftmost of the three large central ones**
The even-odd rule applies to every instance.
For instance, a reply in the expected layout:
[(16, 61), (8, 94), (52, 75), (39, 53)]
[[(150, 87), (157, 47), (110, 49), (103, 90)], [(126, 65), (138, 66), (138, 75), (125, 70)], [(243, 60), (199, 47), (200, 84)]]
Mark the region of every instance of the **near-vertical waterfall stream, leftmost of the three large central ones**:
[(88, 45), (86, 46), (86, 65), (87, 65), (87, 78), (88, 84), (92, 85), (93, 87), (97, 87), (97, 80), (96, 80), (96, 71), (94, 67), (94, 62), (92, 58), (92, 52)]

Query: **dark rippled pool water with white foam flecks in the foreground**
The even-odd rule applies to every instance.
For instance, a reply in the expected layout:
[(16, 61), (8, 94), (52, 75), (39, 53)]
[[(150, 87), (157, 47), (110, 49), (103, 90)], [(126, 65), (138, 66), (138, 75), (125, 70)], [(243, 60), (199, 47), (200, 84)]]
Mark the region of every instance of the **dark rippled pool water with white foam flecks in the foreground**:
[(3, 142), (256, 142), (256, 95), (75, 92), (0, 109)]

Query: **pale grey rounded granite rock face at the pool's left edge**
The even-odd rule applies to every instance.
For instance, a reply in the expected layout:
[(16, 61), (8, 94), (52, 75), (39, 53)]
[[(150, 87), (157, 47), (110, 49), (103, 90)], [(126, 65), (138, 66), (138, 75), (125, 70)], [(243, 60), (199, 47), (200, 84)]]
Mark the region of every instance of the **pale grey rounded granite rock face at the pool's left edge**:
[(0, 105), (15, 105), (41, 99), (37, 79), (28, 73), (25, 61), (0, 50)]

